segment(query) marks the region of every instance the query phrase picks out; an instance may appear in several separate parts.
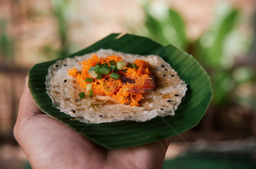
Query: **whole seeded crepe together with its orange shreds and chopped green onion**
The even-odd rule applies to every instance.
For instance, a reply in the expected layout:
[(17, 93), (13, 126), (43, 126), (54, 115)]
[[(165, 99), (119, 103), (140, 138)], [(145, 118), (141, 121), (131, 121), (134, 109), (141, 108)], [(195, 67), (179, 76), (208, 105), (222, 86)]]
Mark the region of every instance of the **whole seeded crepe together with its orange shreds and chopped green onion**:
[(53, 106), (86, 123), (174, 116), (186, 86), (163, 58), (112, 49), (58, 60), (46, 76)]

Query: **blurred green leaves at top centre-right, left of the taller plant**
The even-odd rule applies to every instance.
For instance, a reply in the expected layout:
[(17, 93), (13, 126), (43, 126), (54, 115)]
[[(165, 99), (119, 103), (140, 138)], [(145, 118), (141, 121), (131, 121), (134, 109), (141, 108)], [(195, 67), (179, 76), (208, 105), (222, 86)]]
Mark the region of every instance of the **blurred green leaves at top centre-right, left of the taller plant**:
[(143, 3), (145, 14), (144, 27), (140, 30), (131, 29), (135, 34), (149, 37), (164, 45), (172, 43), (179, 48), (188, 47), (188, 39), (184, 29), (186, 28), (181, 15), (159, 3)]

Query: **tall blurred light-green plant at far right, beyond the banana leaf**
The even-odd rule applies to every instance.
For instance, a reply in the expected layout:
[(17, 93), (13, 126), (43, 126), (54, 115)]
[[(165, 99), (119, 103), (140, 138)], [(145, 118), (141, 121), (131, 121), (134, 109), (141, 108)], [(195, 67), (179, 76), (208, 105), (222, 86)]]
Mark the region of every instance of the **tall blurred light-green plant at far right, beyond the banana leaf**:
[[(248, 53), (252, 39), (241, 34), (242, 15), (237, 9), (220, 5), (210, 30), (195, 42), (195, 56), (208, 69), (213, 88), (213, 102), (225, 105), (231, 100), (232, 92), (242, 83), (250, 82), (255, 73), (235, 65), (236, 57)], [(243, 80), (232, 74), (243, 69)]]

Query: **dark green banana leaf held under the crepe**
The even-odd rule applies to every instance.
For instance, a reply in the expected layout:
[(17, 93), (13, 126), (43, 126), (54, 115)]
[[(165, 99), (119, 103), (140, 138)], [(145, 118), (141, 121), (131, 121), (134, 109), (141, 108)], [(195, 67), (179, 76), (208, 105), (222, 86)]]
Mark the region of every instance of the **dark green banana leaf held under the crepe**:
[[(118, 36), (110, 34), (68, 57), (81, 56), (103, 49), (113, 49), (123, 53), (140, 55), (158, 54), (178, 72), (188, 85), (188, 90), (175, 116), (156, 117), (146, 122), (118, 121), (112, 123), (86, 124), (71, 121), (71, 116), (52, 106), (46, 93), (46, 75), (48, 67), (56, 60), (36, 64), (29, 72), (29, 88), (37, 106), (49, 116), (56, 118), (80, 134), (107, 149), (143, 145), (168, 138), (196, 126), (212, 98), (210, 77), (193, 56), (169, 44), (163, 47), (145, 37), (131, 34)], [(164, 119), (164, 120), (163, 120)], [(167, 124), (168, 123), (168, 124)], [(86, 127), (85, 127), (86, 126)]]

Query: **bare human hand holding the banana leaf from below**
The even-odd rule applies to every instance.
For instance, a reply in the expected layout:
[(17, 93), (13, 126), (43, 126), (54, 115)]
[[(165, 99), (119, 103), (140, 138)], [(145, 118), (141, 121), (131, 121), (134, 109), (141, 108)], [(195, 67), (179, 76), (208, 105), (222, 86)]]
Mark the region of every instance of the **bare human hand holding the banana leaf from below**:
[(20, 98), (14, 136), (33, 169), (161, 169), (170, 139), (107, 150), (44, 114), (28, 88)]

